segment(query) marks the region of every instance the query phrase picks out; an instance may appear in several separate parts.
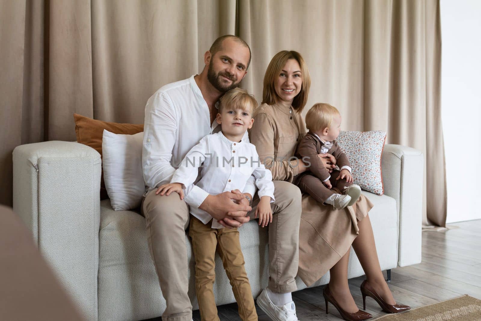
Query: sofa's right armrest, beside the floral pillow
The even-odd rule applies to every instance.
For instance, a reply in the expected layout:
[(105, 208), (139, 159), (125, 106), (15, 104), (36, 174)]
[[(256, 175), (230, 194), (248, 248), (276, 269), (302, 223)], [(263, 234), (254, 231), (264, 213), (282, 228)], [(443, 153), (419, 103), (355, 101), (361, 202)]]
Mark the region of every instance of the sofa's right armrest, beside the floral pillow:
[(423, 154), (410, 147), (386, 144), (381, 159), (384, 194), (396, 200), (398, 265), (421, 262)]

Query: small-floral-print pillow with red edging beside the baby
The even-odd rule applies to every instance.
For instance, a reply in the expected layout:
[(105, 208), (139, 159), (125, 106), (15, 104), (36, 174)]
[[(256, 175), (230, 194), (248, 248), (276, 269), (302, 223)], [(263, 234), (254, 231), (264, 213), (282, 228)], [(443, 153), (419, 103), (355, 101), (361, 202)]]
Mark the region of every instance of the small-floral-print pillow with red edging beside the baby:
[(382, 195), (381, 154), (386, 133), (374, 131), (341, 131), (337, 143), (346, 153), (353, 170), (354, 184), (364, 191)]

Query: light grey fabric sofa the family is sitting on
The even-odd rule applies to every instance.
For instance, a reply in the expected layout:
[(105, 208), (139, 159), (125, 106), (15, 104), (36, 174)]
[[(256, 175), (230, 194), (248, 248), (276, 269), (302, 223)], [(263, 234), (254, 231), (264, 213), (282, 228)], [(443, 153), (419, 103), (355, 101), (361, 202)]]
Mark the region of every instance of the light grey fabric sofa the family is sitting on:
[[(363, 192), (383, 270), (421, 261), (423, 155), (386, 145), (382, 154), (385, 194)], [(88, 320), (142, 320), (165, 309), (150, 258), (145, 221), (133, 211), (115, 212), (100, 201), (101, 158), (92, 148), (66, 141), (18, 146), (13, 151), (13, 209), (31, 230), (41, 253)], [(267, 285), (267, 230), (249, 222), (240, 229), (241, 246), (254, 297)], [(190, 242), (189, 295), (194, 290)], [(363, 275), (351, 252), (349, 277)], [(313, 286), (329, 281), (329, 273)], [(298, 289), (305, 288), (297, 280)], [(235, 302), (217, 257), (218, 305)]]

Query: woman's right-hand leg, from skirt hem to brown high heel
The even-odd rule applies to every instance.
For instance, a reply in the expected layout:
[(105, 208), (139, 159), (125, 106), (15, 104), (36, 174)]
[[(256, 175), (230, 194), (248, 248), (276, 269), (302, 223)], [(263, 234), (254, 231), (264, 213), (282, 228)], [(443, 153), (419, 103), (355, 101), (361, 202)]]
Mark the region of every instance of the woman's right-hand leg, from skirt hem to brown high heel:
[(359, 227), (359, 235), (353, 242), (353, 248), (366, 273), (367, 282), (369, 282), (387, 304), (396, 304), (396, 301), (392, 297), (391, 290), (384, 280), (384, 275), (382, 275), (369, 215), (362, 221), (358, 221), (357, 226)]

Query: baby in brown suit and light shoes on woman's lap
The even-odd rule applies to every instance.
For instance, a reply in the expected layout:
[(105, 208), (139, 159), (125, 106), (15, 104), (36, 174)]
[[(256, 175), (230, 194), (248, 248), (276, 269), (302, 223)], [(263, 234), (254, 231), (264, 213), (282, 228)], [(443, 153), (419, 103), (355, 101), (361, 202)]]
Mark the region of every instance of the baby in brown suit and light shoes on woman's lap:
[[(308, 193), (317, 202), (330, 204), (335, 209), (353, 205), (361, 195), (359, 185), (353, 184), (351, 165), (341, 146), (336, 142), (341, 130), (341, 114), (327, 103), (316, 103), (305, 116), (309, 132), (297, 147), (300, 157), (309, 157), (309, 172), (298, 180), (302, 192)], [(317, 154), (332, 154), (340, 170), (329, 171)], [(336, 187), (342, 194), (331, 190)]]

